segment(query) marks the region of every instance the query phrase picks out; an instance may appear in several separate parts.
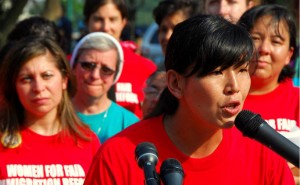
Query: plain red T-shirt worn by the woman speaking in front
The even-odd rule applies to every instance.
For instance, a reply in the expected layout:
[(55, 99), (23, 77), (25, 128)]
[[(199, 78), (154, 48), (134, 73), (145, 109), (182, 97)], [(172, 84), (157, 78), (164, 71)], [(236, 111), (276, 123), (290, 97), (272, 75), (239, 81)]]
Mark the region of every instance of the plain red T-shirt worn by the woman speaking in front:
[(141, 185), (143, 170), (135, 160), (141, 142), (158, 151), (156, 171), (167, 158), (176, 158), (184, 170), (184, 185), (291, 185), (295, 184), (286, 161), (260, 143), (224, 129), (223, 140), (208, 157), (190, 158), (169, 139), (162, 117), (136, 123), (104, 143), (94, 158), (85, 185)]

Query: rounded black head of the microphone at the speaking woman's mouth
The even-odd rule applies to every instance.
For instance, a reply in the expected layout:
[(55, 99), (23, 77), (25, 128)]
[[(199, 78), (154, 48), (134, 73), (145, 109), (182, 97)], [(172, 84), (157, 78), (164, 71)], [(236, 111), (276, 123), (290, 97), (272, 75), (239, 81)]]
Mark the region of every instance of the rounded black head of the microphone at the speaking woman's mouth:
[(238, 113), (234, 120), (236, 128), (238, 128), (244, 136), (250, 138), (255, 137), (258, 128), (263, 122), (264, 120), (259, 114), (254, 114), (249, 110), (242, 110), (240, 113)]

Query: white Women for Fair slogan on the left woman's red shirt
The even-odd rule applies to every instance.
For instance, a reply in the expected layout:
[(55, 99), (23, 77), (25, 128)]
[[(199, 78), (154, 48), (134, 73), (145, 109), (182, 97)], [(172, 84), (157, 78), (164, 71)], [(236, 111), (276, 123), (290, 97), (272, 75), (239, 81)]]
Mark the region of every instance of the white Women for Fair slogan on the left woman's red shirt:
[(8, 178), (0, 185), (82, 185), (85, 172), (81, 165), (20, 165), (6, 166)]

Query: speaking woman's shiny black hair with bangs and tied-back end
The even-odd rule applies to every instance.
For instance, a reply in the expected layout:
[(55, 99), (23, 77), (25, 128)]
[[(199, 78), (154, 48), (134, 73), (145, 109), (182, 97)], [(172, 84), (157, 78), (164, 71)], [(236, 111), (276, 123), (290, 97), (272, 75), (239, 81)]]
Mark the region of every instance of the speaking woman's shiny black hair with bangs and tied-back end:
[[(238, 68), (253, 57), (254, 45), (246, 29), (217, 15), (197, 15), (175, 26), (167, 46), (165, 69), (201, 78), (218, 67)], [(178, 99), (166, 88), (148, 117), (172, 115), (178, 106)]]

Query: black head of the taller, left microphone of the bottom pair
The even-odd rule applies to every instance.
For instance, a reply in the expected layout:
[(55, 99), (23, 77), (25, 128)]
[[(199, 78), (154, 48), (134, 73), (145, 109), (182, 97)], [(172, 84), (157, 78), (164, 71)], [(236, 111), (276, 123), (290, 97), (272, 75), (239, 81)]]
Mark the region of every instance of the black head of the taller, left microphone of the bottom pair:
[(144, 166), (145, 163), (151, 162), (156, 165), (158, 161), (158, 152), (154, 144), (150, 142), (140, 143), (135, 148), (135, 158), (140, 168)]

